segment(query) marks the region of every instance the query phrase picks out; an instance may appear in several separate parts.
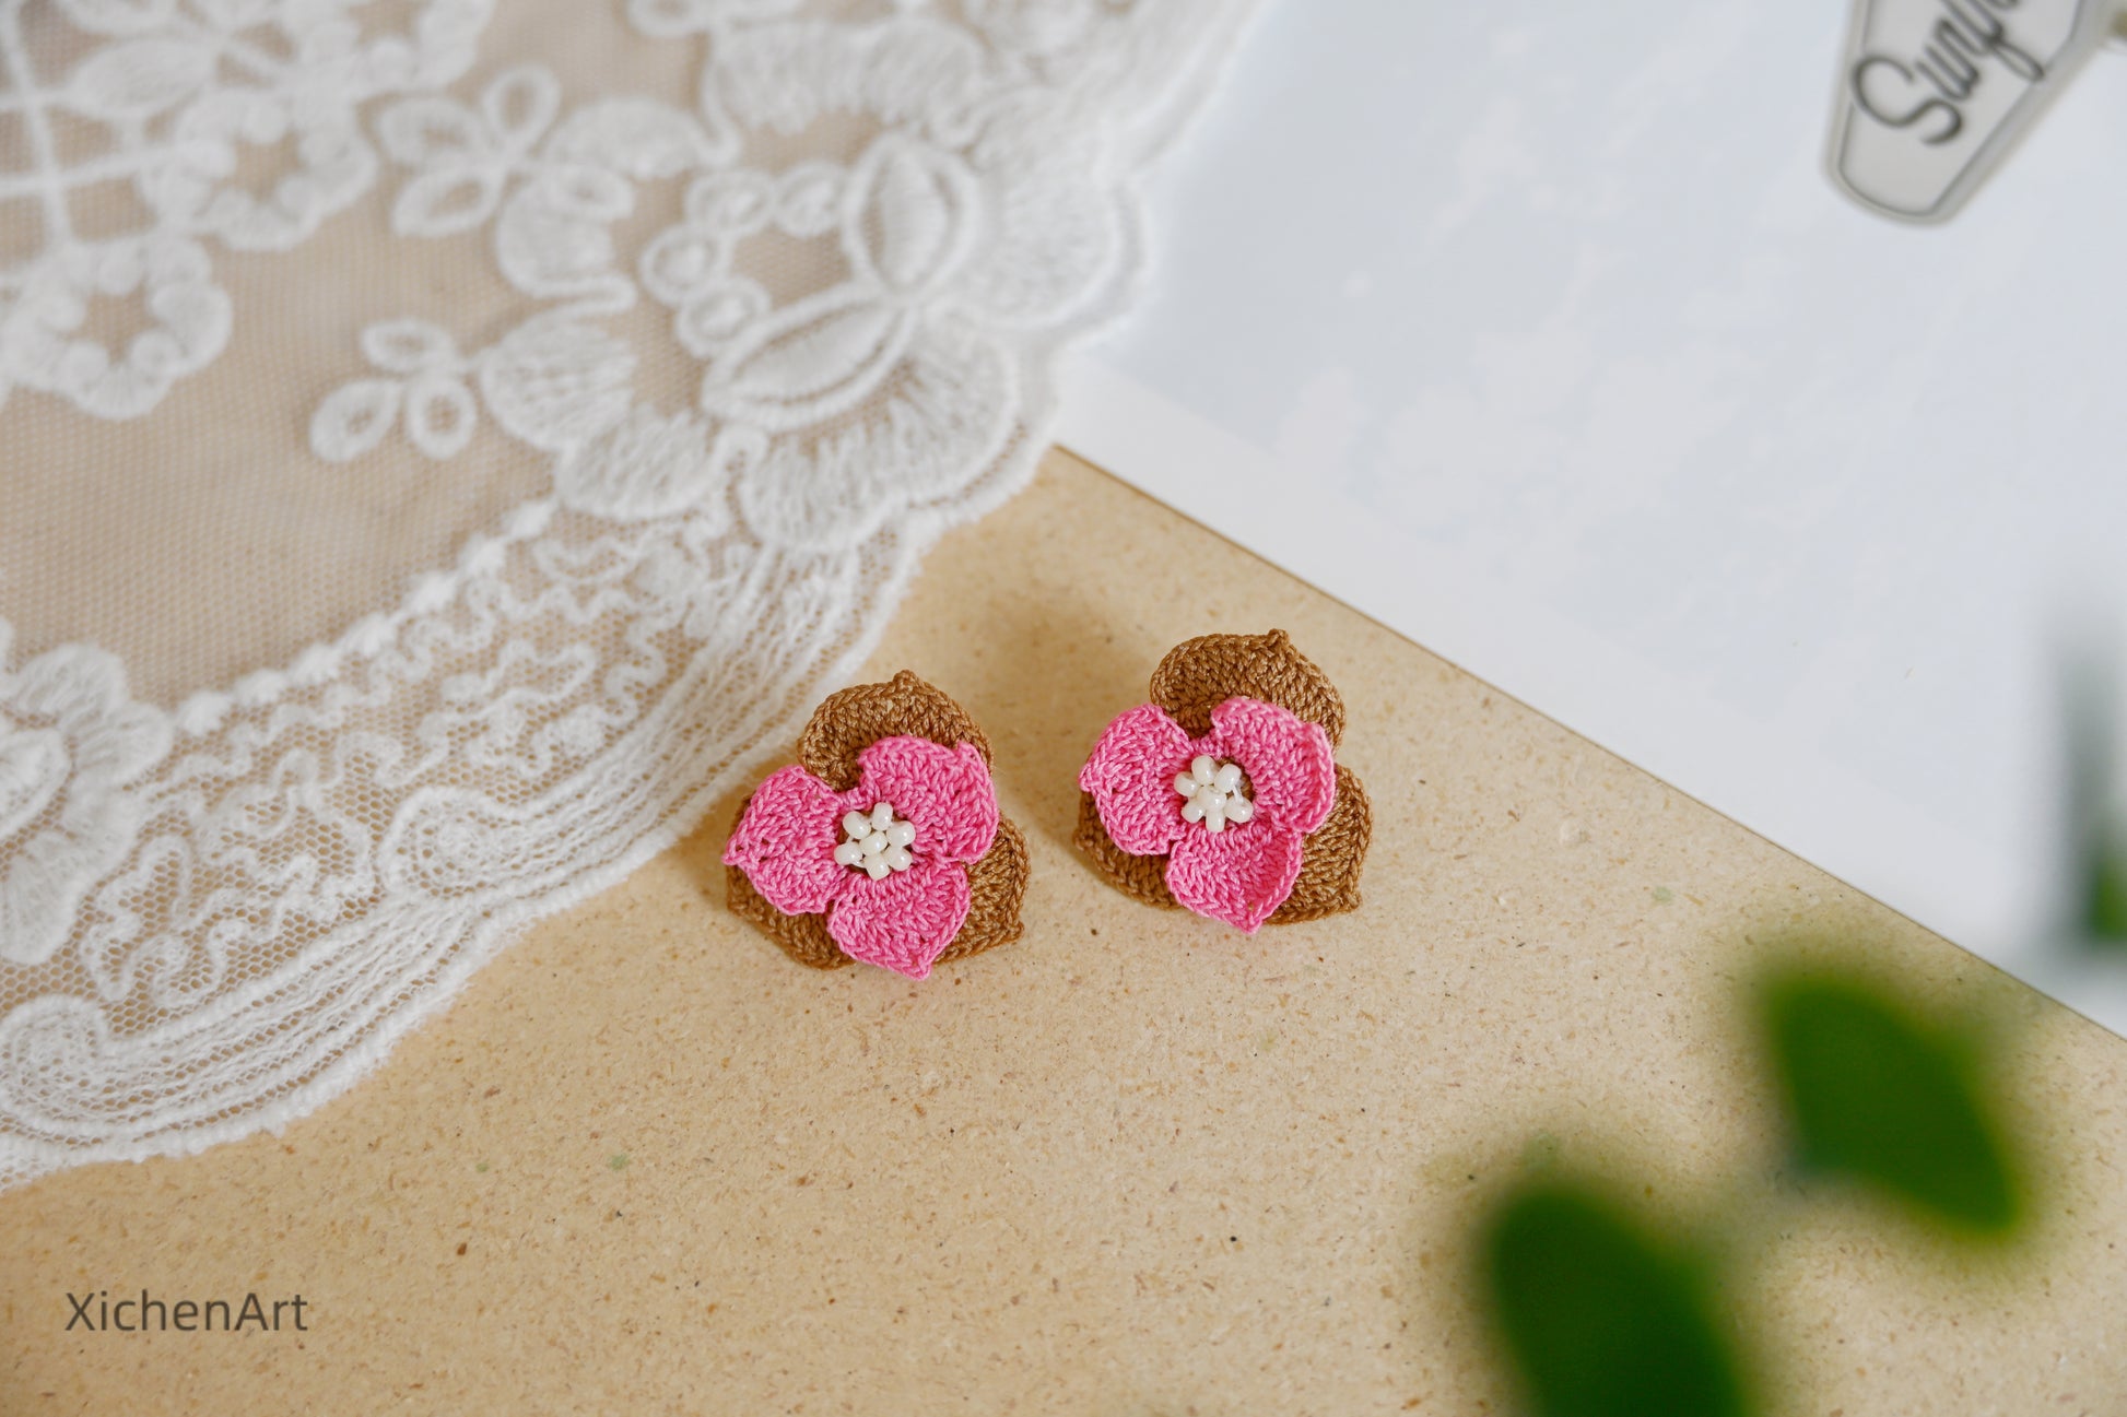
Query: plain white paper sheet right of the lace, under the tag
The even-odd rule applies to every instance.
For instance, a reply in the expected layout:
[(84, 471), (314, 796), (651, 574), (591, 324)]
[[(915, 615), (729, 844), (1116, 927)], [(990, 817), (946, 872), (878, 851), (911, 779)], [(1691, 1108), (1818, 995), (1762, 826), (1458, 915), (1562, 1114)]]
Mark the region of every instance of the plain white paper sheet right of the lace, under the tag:
[(1274, 0), (1061, 440), (2112, 1028), (2046, 953), (2127, 606), (2127, 55), (1944, 228), (1842, 6)]

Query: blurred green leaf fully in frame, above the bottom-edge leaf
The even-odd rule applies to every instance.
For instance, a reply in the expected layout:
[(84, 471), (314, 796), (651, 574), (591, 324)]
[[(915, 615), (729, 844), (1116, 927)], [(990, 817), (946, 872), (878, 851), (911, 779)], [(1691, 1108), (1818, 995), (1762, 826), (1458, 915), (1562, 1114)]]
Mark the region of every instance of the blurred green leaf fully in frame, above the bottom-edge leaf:
[(1957, 1040), (1853, 979), (1789, 977), (1765, 1026), (1797, 1160), (1978, 1234), (2021, 1217), (2002, 1138)]

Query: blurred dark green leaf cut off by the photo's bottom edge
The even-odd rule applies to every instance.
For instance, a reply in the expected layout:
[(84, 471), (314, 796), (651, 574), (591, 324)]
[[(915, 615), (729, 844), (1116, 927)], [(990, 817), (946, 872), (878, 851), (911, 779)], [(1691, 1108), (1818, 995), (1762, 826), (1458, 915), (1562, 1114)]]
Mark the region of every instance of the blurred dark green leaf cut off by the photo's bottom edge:
[(1493, 1323), (1542, 1417), (1751, 1411), (1697, 1272), (1597, 1194), (1521, 1187), (1483, 1253)]

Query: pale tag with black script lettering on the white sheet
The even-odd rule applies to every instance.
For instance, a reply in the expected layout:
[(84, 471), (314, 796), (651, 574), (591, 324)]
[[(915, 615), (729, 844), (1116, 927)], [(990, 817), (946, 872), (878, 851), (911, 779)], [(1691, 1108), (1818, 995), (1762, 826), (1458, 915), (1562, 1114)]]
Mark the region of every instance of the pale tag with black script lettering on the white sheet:
[(1902, 221), (1946, 221), (2112, 32), (2121, 0), (1855, 0), (1831, 177)]

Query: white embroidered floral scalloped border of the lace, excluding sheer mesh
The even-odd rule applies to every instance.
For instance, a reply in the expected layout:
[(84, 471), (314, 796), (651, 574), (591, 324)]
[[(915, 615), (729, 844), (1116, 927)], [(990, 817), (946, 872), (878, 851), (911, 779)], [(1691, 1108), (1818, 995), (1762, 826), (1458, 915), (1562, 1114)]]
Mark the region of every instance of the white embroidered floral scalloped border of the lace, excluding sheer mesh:
[[(861, 21), (793, 0), (634, 0), (647, 34), (702, 43), (700, 102), (564, 113), (538, 68), (470, 102), (436, 94), (470, 66), (485, 4), (432, 0), (396, 40), (355, 38), (355, 9), (64, 13), (108, 38), (104, 55), (277, 28), (274, 53), (315, 72), (259, 85), (315, 87), (302, 121), (406, 96), (304, 151), (402, 168), (406, 238), (491, 228), (530, 309), (470, 353), (428, 319), (368, 328), (372, 372), (319, 406), (313, 447), (359, 457), (402, 430), (447, 460), (491, 417), (547, 455), (553, 491), (396, 611), (170, 713), (132, 702), (96, 649), (17, 664), (0, 621), (0, 985), (21, 1000), (0, 1019), (0, 1185), (302, 1115), (515, 930), (617, 881), (742, 781), (853, 672), (923, 549), (1029, 474), (1057, 353), (1136, 272), (1136, 174), (1244, 17), (1238, 0), (961, 0)], [(19, 11), (0, 0), (0, 57), (34, 106), (49, 85), (4, 40)], [(134, 126), (145, 170), (191, 170), (155, 145), (213, 94), (259, 87), (230, 77), (234, 49), (215, 53)], [(868, 115), (876, 138), (849, 162), (747, 164), (757, 134), (827, 111)], [(255, 123), (238, 126), (270, 132)], [(225, 343), (202, 236), (296, 245), (351, 200), (347, 174), (315, 181), (315, 200), (172, 196), (128, 238), (138, 277), (81, 264), (123, 243), (83, 255), (60, 232), (32, 262), (43, 285), (0, 283), (0, 379), (100, 417), (153, 406)], [(681, 185), (683, 217), (623, 253), (617, 213), (649, 183)], [(768, 300), (736, 243), (770, 228), (847, 274)], [(51, 343), (64, 300), (130, 279), (189, 334), (151, 330), (96, 370)], [(608, 323), (644, 294), (700, 362), (687, 409), (644, 402)], [(217, 298), (221, 334), (204, 338)]]

